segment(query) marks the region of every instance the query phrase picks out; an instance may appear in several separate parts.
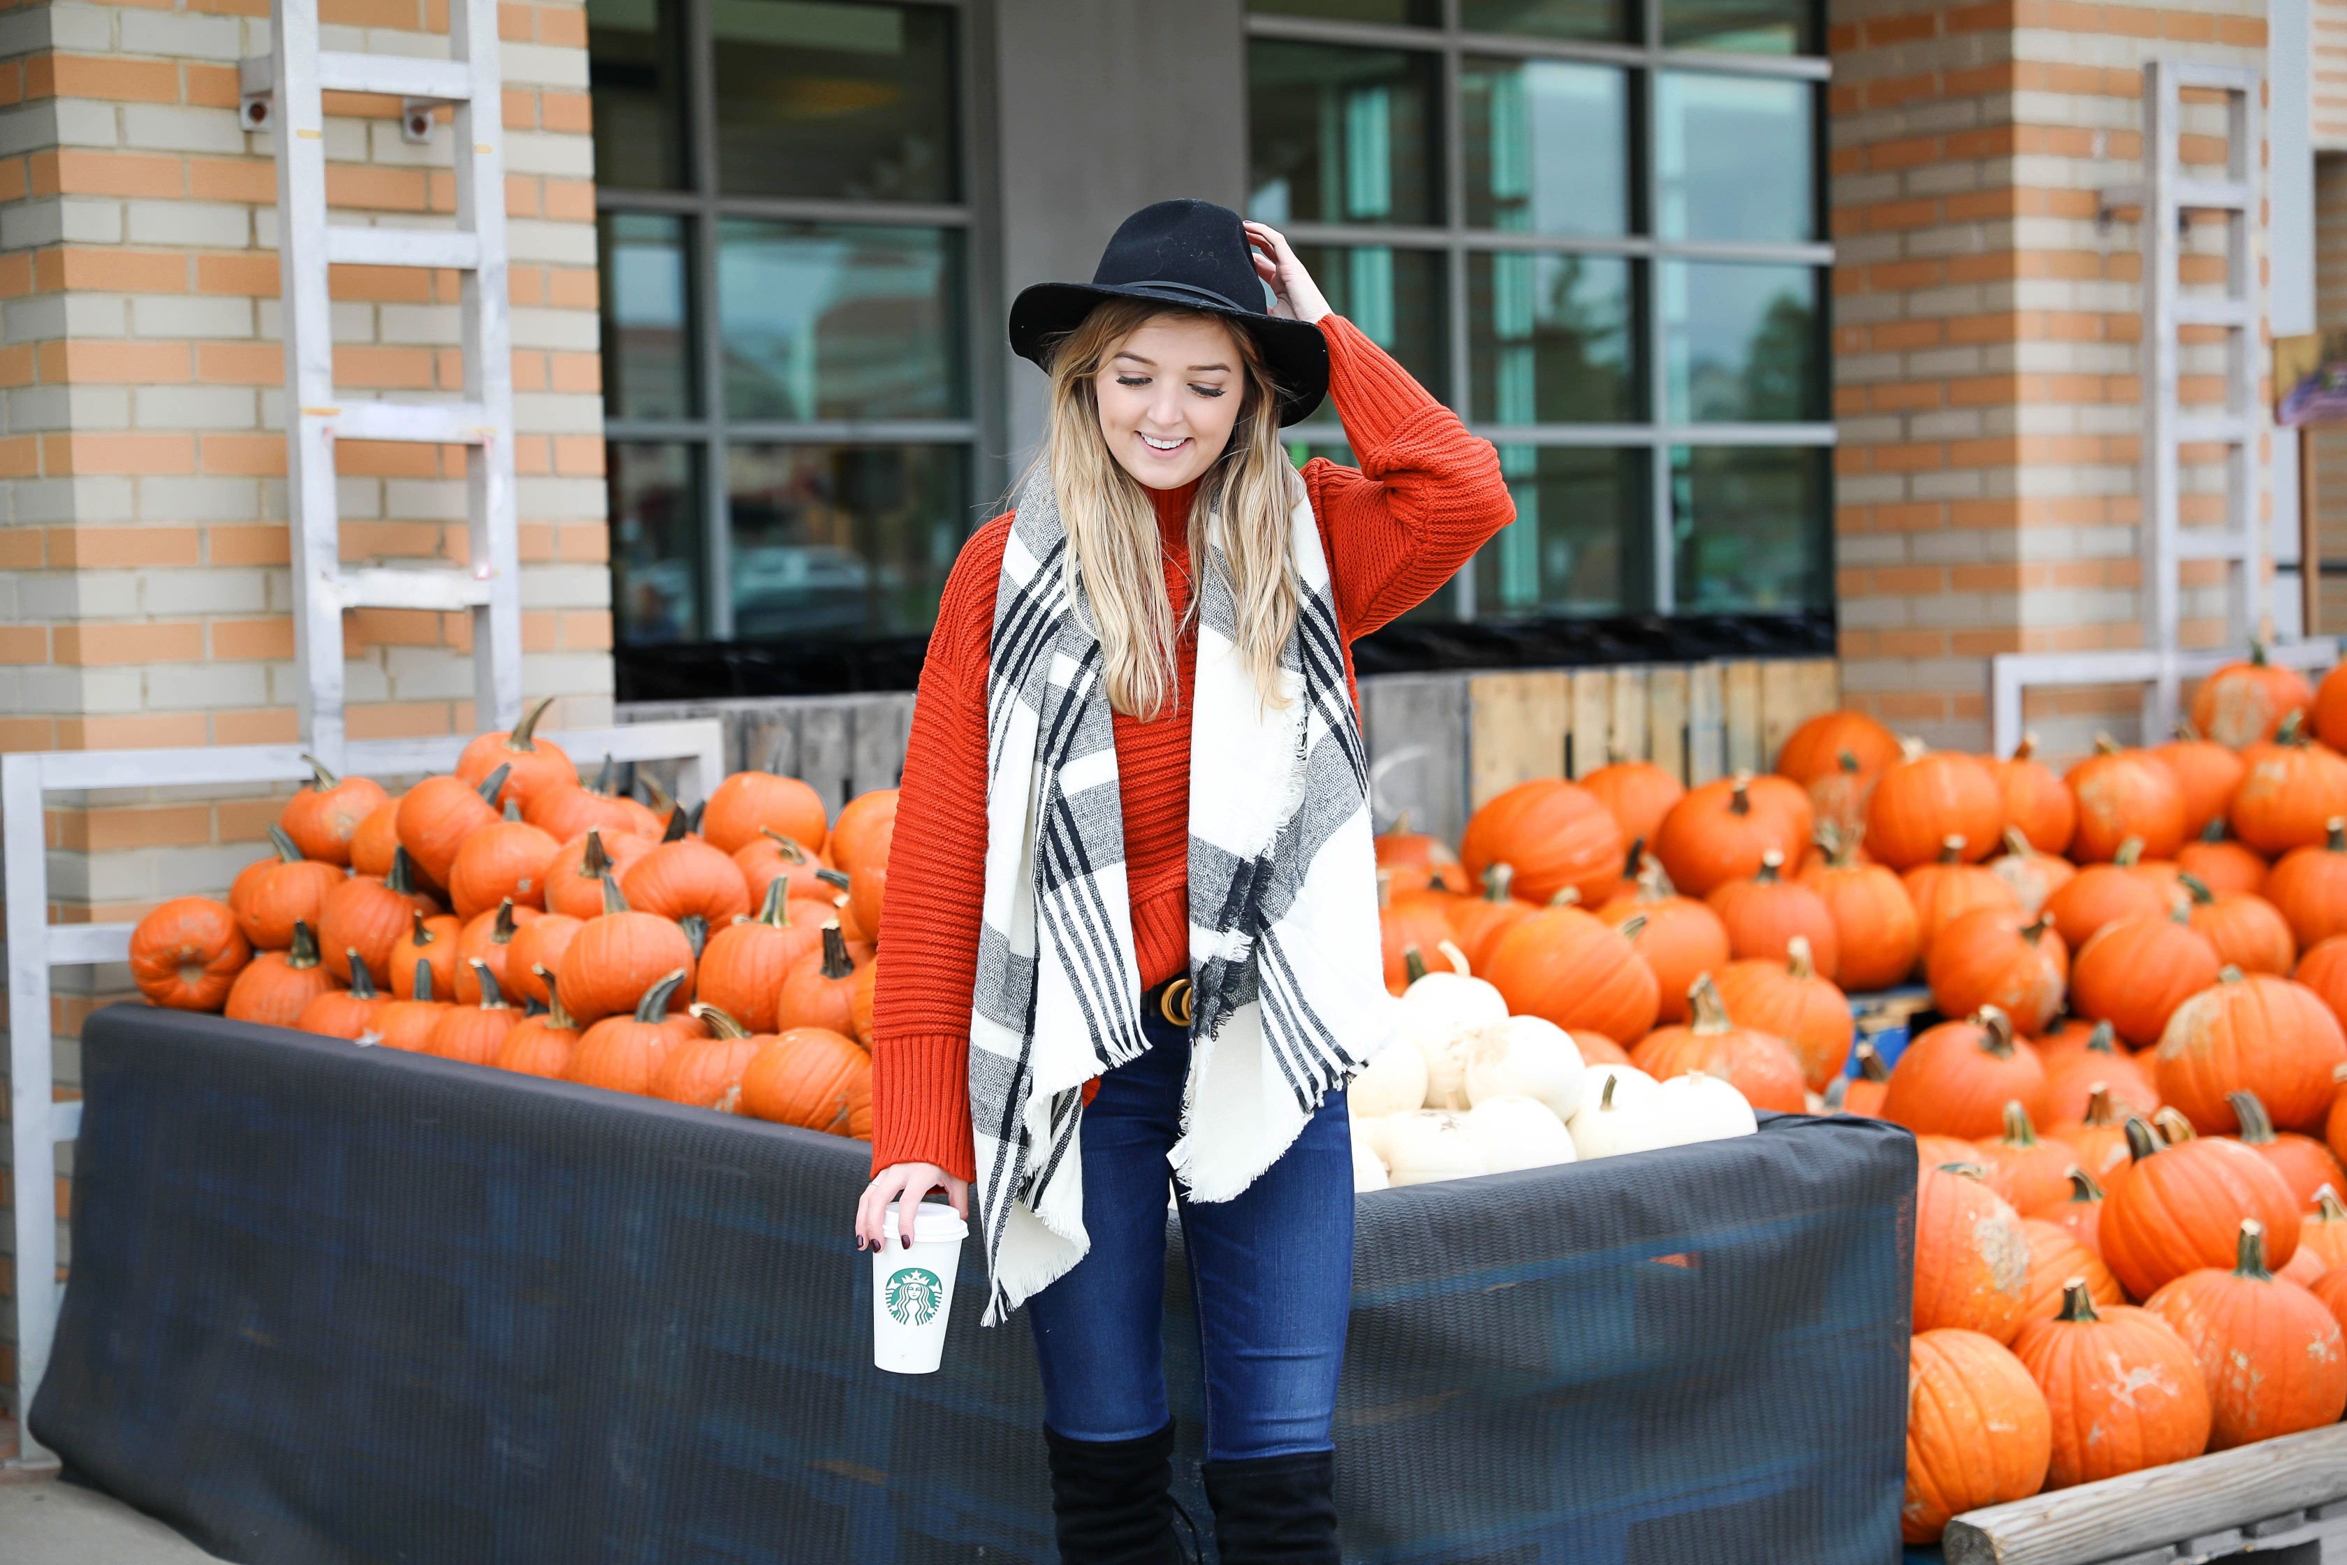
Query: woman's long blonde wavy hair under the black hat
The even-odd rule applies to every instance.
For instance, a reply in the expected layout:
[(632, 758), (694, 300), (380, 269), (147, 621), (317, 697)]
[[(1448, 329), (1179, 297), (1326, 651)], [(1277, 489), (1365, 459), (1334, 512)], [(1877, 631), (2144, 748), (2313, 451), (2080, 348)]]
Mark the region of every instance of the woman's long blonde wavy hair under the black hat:
[(1166, 596), (1157, 511), (1148, 488), (1108, 450), (1094, 378), (1134, 331), (1155, 319), (1209, 319), (1230, 331), (1244, 394), (1230, 443), (1213, 460), (1190, 504), (1190, 575), (1202, 580), (1206, 519), (1220, 511), (1223, 558), (1239, 617), (1239, 657), (1256, 676), (1265, 706), (1286, 706), (1279, 664), (1296, 629), (1296, 565), (1289, 558), (1291, 474), (1279, 443), (1279, 387), (1256, 340), (1202, 310), (1155, 300), (1108, 300), (1051, 352), (1051, 436), (1037, 455), (1058, 488), (1058, 509), (1075, 547), (1084, 598), (1101, 636), (1108, 704), (1150, 720), (1176, 699), (1176, 645), (1197, 615), (1197, 591), (1183, 624)]

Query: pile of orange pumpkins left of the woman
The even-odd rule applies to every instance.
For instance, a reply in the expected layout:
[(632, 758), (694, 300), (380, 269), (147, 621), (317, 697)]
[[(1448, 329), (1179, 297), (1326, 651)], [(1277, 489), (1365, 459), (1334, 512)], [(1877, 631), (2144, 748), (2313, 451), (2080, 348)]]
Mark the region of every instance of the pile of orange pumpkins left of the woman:
[(868, 1140), (897, 791), (638, 802), (535, 737), (547, 706), (401, 795), (317, 767), (228, 901), (138, 920), (138, 992)]

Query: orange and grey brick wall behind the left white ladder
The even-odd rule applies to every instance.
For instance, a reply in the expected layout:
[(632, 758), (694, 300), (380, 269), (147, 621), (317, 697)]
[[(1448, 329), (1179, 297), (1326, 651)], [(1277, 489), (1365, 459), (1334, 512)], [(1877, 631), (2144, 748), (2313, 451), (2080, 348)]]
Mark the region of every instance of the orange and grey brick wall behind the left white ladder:
[[(329, 49), (446, 52), (446, 0), (322, 0)], [(613, 711), (582, 5), (502, 5), (523, 690)], [(0, 0), (0, 748), (291, 741), (277, 174), (237, 124), (268, 0)], [(448, 223), (451, 124), (329, 94), (336, 221)], [(340, 397), (455, 397), (455, 275), (336, 267)], [(338, 450), (347, 561), (462, 561), (462, 450)], [(352, 737), (474, 723), (469, 617), (345, 619)], [(265, 798), (52, 800), (52, 917), (221, 892)], [(124, 976), (59, 969), (80, 1016)], [(12, 1288), (0, 1272), (0, 1286)], [(0, 1344), (0, 1382), (14, 1380)]]

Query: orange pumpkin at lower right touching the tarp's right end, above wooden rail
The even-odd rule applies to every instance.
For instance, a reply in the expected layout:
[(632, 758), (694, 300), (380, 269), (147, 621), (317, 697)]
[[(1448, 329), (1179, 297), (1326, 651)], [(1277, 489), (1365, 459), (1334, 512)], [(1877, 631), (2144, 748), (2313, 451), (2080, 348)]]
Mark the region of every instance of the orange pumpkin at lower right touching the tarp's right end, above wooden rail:
[(1964, 1511), (2028, 1499), (2054, 1459), (2044, 1391), (1995, 1337), (1925, 1330), (1908, 1340), (1908, 1481), (1899, 1534), (1936, 1544)]

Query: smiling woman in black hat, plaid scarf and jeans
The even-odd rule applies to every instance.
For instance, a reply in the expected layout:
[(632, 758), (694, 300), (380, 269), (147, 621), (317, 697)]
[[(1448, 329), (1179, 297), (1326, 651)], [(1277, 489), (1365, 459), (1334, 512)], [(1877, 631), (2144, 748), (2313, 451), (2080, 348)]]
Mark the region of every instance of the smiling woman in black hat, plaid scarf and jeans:
[[(1263, 284), (1277, 293), (1263, 310)], [(873, 1011), (882, 1213), (943, 1190), (1021, 1302), (1068, 1565), (1178, 1560), (1181, 1206), (1223, 1560), (1335, 1560), (1345, 1082), (1387, 1037), (1350, 643), (1514, 516), (1493, 448), (1206, 202), (1134, 214), (1012, 347), (1044, 455), (939, 605)], [(1361, 469), (1279, 427), (1335, 389)]]

